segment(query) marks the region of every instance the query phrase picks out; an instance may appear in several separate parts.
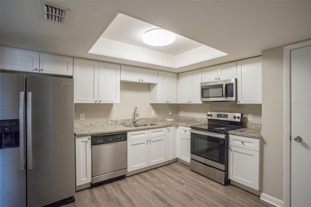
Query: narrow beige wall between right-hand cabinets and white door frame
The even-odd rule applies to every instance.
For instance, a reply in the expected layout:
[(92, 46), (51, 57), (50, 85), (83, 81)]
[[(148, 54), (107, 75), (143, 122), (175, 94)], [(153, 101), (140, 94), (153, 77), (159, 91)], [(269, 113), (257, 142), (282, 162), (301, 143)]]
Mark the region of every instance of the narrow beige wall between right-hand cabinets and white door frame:
[(284, 200), (283, 47), (262, 51), (262, 192)]

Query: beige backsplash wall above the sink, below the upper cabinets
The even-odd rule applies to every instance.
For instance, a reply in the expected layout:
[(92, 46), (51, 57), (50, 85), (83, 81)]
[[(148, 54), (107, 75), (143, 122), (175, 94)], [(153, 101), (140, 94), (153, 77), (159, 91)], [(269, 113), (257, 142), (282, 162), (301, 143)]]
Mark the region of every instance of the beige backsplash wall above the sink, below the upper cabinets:
[(80, 113), (85, 113), (86, 121), (106, 121), (133, 119), (137, 106), (139, 118), (150, 118), (151, 111), (155, 117), (177, 115), (176, 104), (149, 104), (149, 85), (121, 83), (120, 104), (74, 104), (74, 120), (80, 120)]

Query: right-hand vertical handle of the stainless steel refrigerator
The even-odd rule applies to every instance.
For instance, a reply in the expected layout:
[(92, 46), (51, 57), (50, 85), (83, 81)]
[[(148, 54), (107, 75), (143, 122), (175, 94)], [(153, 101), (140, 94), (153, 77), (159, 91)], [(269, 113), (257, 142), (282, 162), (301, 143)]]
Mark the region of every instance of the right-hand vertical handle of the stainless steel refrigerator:
[(28, 170), (33, 169), (31, 92), (27, 92), (27, 158)]

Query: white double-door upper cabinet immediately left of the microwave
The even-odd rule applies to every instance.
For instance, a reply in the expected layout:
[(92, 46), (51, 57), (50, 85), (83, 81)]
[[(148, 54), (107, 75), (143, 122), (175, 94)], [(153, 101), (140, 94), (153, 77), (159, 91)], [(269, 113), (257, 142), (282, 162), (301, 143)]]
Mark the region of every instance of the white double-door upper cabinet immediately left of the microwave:
[(179, 73), (179, 104), (201, 104), (202, 70)]

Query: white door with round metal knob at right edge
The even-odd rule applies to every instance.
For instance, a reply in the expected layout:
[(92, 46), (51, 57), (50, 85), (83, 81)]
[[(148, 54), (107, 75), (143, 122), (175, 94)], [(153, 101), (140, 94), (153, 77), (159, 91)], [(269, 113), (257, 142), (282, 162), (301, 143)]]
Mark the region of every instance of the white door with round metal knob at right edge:
[(291, 205), (311, 205), (311, 46), (291, 51)]

